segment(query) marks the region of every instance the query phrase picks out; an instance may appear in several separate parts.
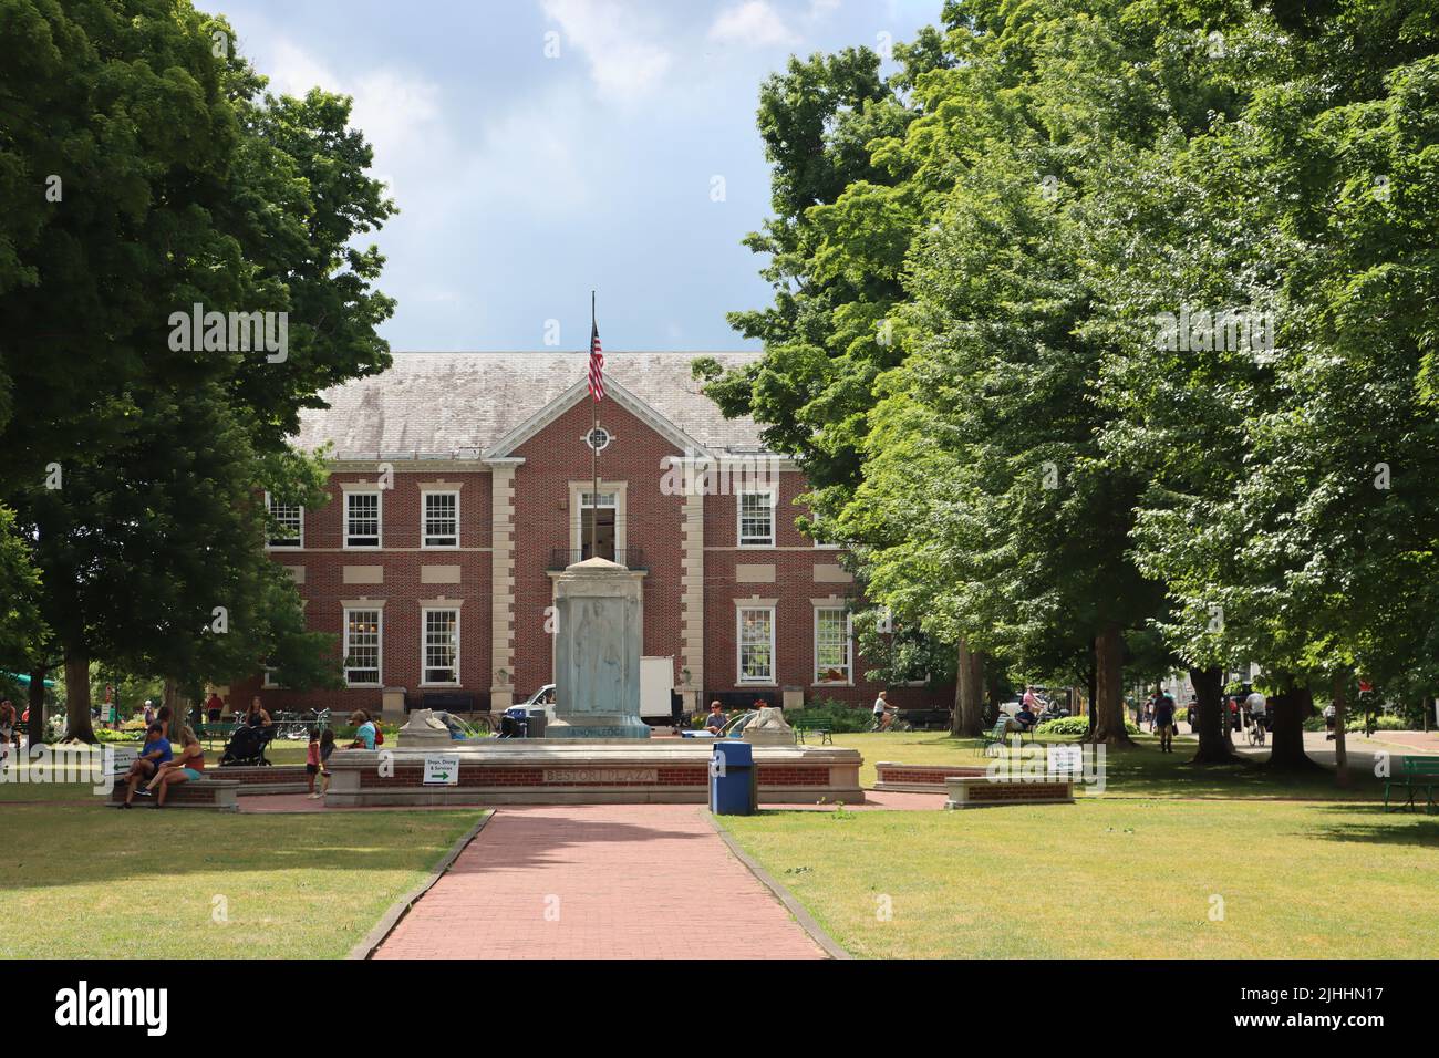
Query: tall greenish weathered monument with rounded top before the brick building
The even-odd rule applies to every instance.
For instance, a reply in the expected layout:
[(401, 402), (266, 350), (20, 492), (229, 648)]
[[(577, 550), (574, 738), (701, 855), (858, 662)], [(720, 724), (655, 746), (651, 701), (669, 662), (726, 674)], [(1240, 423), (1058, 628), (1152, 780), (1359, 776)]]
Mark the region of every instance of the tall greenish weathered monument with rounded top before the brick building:
[(639, 718), (640, 582), (606, 559), (555, 579), (554, 720), (545, 738), (649, 738)]

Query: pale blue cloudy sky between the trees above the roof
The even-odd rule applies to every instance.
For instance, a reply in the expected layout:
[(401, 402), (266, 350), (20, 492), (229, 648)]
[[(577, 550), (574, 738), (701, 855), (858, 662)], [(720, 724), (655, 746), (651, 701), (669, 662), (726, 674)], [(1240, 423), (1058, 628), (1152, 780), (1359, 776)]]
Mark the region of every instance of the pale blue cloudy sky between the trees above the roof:
[[(751, 348), (740, 239), (768, 214), (760, 82), (790, 53), (908, 40), (940, 0), (199, 0), (272, 88), (354, 96), (400, 206), (394, 351)], [(558, 55), (547, 56), (550, 52)], [(722, 200), (715, 200), (722, 178)]]

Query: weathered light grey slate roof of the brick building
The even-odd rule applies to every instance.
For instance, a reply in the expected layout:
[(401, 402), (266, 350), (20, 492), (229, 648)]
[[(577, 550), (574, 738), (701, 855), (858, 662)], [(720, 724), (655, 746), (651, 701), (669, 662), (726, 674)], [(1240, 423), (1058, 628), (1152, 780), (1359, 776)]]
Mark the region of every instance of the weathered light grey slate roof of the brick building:
[[(327, 390), (301, 413), (296, 443), (331, 442), (335, 459), (476, 456), (587, 371), (586, 353), (396, 353), (384, 374)], [(604, 374), (711, 449), (763, 449), (748, 417), (725, 419), (689, 374), (698, 357), (727, 367), (758, 353), (604, 353)], [(603, 406), (602, 406), (603, 417)]]

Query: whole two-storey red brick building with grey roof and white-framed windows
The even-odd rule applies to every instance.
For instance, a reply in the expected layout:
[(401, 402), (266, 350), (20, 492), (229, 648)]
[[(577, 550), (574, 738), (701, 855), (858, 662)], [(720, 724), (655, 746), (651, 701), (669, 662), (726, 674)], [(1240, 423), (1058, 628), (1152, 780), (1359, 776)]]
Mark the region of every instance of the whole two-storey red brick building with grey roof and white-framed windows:
[[(718, 354), (738, 364), (754, 354)], [(583, 353), (400, 354), (325, 394), (298, 442), (330, 445), (331, 501), (278, 510), (269, 543), (311, 629), (340, 636), (347, 689), (256, 678), (269, 708), (377, 710), (383, 688), (499, 710), (553, 681), (554, 577), (596, 547), (643, 583), (645, 656), (698, 708), (800, 697), (868, 705), (850, 576), (794, 525), (803, 475), (727, 420), (688, 354), (607, 353), (591, 484)], [(597, 525), (593, 521), (597, 520)], [(895, 688), (899, 704), (948, 691)]]

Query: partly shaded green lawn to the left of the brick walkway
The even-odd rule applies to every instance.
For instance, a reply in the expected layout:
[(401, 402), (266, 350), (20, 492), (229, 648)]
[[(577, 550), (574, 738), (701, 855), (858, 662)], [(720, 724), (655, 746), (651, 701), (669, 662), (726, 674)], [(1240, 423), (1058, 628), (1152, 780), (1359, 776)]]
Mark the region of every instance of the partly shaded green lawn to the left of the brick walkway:
[(0, 786), (0, 957), (341, 957), (484, 815), (117, 812), (78, 789)]

